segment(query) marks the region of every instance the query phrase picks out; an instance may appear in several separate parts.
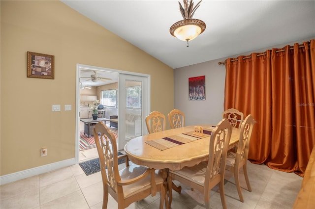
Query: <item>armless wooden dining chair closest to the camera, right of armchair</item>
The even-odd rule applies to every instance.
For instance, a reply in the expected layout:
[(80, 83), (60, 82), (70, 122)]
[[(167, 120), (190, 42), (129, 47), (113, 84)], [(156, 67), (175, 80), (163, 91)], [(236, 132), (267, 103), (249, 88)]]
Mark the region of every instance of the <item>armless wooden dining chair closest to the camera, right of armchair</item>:
[(210, 208), (210, 190), (219, 184), (221, 204), (223, 209), (226, 209), (224, 170), (231, 133), (231, 124), (228, 120), (222, 119), (211, 133), (208, 161), (200, 162), (198, 165), (192, 167), (184, 167), (181, 170), (169, 170), (167, 177), (169, 204), (172, 202), (171, 183), (177, 180), (202, 192), (207, 209)]

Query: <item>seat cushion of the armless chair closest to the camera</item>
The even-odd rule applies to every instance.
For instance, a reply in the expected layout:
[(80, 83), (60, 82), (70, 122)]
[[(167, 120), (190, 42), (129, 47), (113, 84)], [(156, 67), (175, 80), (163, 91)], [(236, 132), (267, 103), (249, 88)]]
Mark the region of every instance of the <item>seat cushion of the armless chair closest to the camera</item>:
[(178, 171), (170, 170), (169, 172), (204, 186), (207, 166), (208, 162), (200, 162), (198, 165), (192, 167), (184, 167)]

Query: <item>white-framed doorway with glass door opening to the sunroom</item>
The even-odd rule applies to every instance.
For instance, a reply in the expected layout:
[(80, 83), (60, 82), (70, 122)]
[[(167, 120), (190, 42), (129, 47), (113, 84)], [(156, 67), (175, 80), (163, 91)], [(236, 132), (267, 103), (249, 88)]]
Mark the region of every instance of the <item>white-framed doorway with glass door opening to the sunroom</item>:
[[(127, 81), (123, 82), (121, 79), (125, 79), (126, 76), (133, 76), (133, 78), (127, 77)], [(78, 110), (76, 112), (75, 136), (76, 163), (98, 157), (96, 148), (85, 150), (84, 157), (81, 155), (83, 152), (80, 152), (80, 146), (82, 145), (80, 135), (83, 133), (87, 136), (87, 129), (89, 128), (93, 133), (93, 126), (87, 128), (87, 125), (80, 119), (92, 118), (92, 112), (89, 106), (93, 104), (95, 100), (99, 100), (100, 103), (104, 105), (104, 111), (101, 111), (102, 115), (100, 116), (108, 119), (104, 121), (108, 127), (110, 127), (110, 118), (112, 116), (117, 116), (117, 128), (114, 126), (111, 127), (111, 129), (117, 129), (119, 150), (124, 149), (124, 145), (132, 137), (147, 133), (145, 122), (142, 119), (143, 115), (149, 114), (150, 111), (148, 108), (148, 106), (150, 106), (150, 94), (148, 93), (150, 92), (150, 75), (77, 64), (76, 79), (76, 109)], [(139, 96), (138, 94), (137, 97), (136, 93), (139, 93), (139, 89), (141, 89), (141, 95)], [(113, 97), (115, 91), (116, 98)], [(131, 100), (128, 100), (126, 97), (126, 91), (129, 91), (129, 94), (127, 95), (129, 98), (131, 96)], [(123, 98), (120, 98), (121, 96), (123, 96)], [(122, 108), (121, 106), (124, 107)], [(126, 117), (126, 115), (128, 117)], [(132, 115), (135, 117), (131, 118)], [(134, 122), (135, 120), (136, 122)], [(130, 122), (134, 122), (135, 127), (126, 130), (126, 123), (129, 123), (128, 125), (130, 125)], [(122, 128), (119, 129), (119, 127)], [(130, 127), (128, 126), (128, 128)], [(130, 135), (130, 130), (135, 131), (133, 132), (133, 135)], [(91, 132), (90, 136), (92, 137), (93, 134), (91, 134)]]

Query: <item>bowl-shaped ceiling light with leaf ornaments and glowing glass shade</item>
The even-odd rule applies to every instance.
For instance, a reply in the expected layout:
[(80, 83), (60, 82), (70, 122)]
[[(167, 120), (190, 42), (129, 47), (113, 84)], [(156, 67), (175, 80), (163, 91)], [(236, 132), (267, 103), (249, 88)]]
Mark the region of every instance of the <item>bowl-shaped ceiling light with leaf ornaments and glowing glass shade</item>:
[(184, 20), (178, 21), (174, 23), (169, 32), (175, 36), (176, 38), (187, 41), (187, 46), (189, 47), (188, 41), (196, 38), (199, 34), (201, 34), (206, 29), (206, 24), (198, 19), (192, 19), (193, 14), (196, 9), (200, 6), (201, 0), (197, 3), (195, 7), (193, 7), (192, 0), (183, 0), (184, 8), (182, 4), (179, 3), (180, 12), (184, 18)]

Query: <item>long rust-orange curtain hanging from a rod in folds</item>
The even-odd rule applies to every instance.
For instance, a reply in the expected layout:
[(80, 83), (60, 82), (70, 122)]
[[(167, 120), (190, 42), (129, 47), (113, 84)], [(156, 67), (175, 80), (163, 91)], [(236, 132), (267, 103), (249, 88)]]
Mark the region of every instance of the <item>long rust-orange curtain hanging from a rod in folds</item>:
[(227, 59), (224, 109), (254, 117), (253, 163), (303, 176), (315, 146), (315, 40), (290, 48)]

